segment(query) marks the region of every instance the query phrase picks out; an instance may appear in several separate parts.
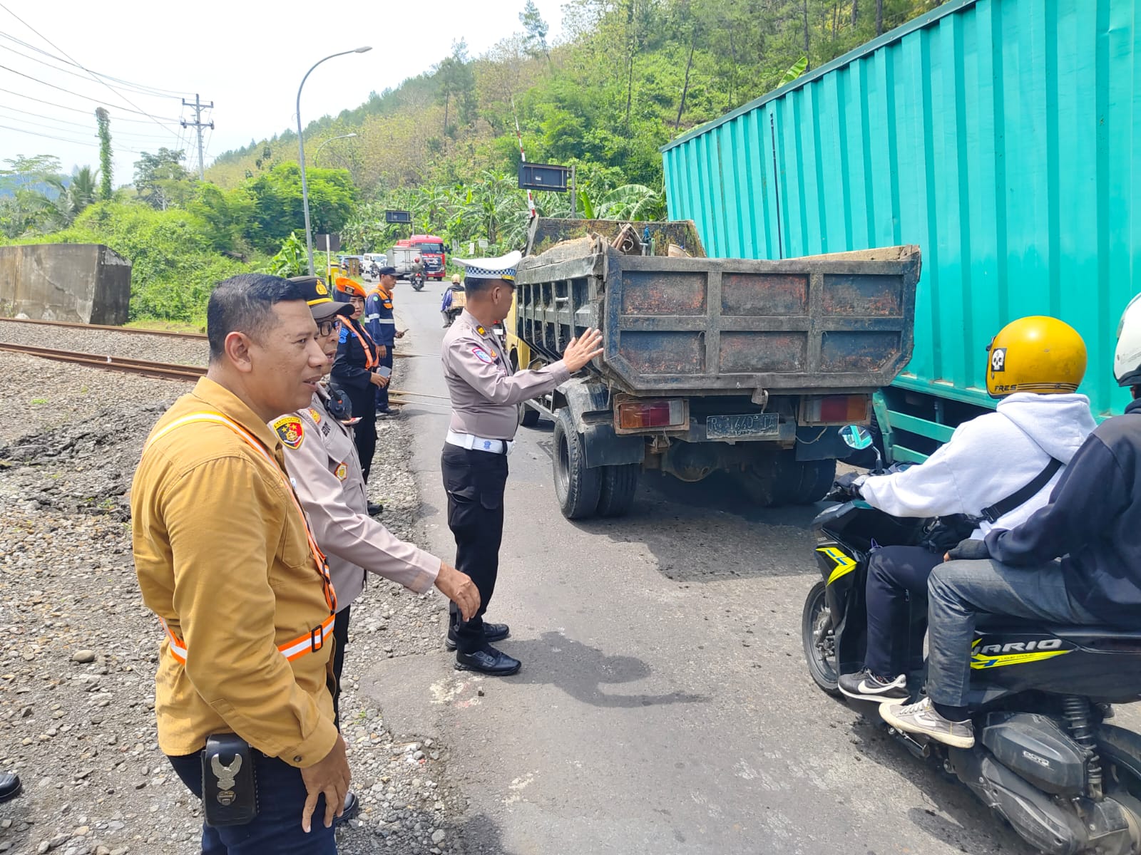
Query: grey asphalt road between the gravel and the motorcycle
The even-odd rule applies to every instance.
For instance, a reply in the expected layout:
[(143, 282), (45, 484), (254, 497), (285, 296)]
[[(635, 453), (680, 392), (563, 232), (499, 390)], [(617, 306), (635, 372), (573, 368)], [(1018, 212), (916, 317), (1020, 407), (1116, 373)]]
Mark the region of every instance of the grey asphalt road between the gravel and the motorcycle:
[[(440, 293), (397, 287), (402, 350), (438, 355)], [(402, 388), (446, 394), (438, 359), (405, 365)], [(404, 417), (428, 542), (451, 560), (446, 401), (424, 400)], [(450, 747), (469, 839), (512, 855), (1030, 852), (808, 676), (816, 508), (756, 510), (726, 481), (663, 477), (630, 516), (572, 523), (551, 424), (517, 440), (488, 619), (511, 625), (502, 646), (523, 670), (474, 678), (442, 644), (362, 684), (390, 726)]]

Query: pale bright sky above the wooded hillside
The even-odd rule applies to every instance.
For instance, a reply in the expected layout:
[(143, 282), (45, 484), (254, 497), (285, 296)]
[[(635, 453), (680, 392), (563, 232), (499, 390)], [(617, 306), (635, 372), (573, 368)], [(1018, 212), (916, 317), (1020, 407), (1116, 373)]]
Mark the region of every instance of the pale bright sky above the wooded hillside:
[[(130, 182), (139, 152), (162, 146), (186, 149), (186, 165), (196, 171), (197, 138), (179, 125), (194, 120), (184, 99), (193, 104), (197, 93), (215, 105), (202, 112), (215, 123), (203, 133), (209, 166), (213, 156), (251, 139), (296, 129), (298, 85), (321, 58), (372, 47), (309, 75), (302, 124), (429, 70), (460, 39), (470, 56), (484, 54), (521, 31), (524, 2), (0, 0), (0, 162), (51, 154), (64, 172), (98, 166), (94, 112), (104, 106), (116, 187)], [(549, 41), (561, 28), (561, 2), (535, 0)]]

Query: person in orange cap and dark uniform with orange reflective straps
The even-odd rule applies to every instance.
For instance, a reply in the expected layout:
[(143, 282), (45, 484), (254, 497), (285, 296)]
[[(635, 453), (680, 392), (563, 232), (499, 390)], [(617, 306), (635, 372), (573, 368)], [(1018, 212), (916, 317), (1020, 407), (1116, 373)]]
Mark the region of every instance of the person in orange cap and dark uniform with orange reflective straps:
[[(380, 365), (377, 342), (361, 325), (361, 315), (364, 314), (364, 288), (343, 276), (338, 277), (337, 288), (348, 295), (353, 314), (341, 326), (332, 378), (353, 402), (353, 415), (361, 417), (354, 427), (354, 441), (357, 455), (361, 457), (364, 480), (367, 481), (372, 456), (377, 450), (377, 409), (373, 396), (374, 390), (388, 385), (388, 377), (377, 374), (377, 366)], [(373, 513), (372, 508), (370, 505), (370, 513)]]

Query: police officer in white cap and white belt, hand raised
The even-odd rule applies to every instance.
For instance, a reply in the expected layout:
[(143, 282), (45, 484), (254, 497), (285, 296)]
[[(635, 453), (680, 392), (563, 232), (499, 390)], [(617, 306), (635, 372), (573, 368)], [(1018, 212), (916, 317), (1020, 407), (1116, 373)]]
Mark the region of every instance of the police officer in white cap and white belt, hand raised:
[(492, 642), (508, 637), (505, 624), (484, 621), (495, 591), (503, 536), (507, 456), (519, 423), (519, 405), (550, 392), (602, 352), (601, 333), (573, 339), (563, 359), (539, 370), (511, 372), (503, 343), (493, 332), (511, 311), (515, 270), (523, 253), (456, 262), (466, 270), (467, 308), (444, 334), (444, 380), (452, 398), (452, 421), (440, 469), (447, 490), (447, 524), (455, 536), (455, 567), (479, 588), (479, 611), (464, 620), (452, 604), (447, 646), (455, 667), (492, 676), (519, 670), (518, 659)]

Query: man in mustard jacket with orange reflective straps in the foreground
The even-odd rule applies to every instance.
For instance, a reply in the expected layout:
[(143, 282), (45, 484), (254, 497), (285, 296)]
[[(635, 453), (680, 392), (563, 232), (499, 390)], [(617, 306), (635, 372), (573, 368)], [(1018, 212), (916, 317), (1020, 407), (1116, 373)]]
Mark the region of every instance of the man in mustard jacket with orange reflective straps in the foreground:
[[(325, 355), (298, 285), (261, 274), (215, 290), (207, 334), (207, 376), (159, 420), (131, 487), (136, 572), (164, 636), (159, 747), (200, 798), (209, 736), (252, 749), (258, 814), (203, 826), (203, 853), (335, 855), (350, 777), (329, 689), (337, 595), (266, 425), (306, 406)], [(236, 772), (215, 764), (219, 800)]]

